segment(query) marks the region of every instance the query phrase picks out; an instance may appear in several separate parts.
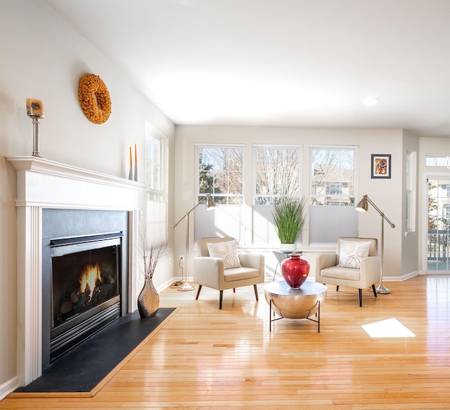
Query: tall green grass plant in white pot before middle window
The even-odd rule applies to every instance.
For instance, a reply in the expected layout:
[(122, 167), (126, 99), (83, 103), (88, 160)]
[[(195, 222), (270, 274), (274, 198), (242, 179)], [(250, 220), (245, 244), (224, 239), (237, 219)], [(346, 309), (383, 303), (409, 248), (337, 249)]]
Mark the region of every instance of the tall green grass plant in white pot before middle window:
[(272, 216), (282, 252), (295, 251), (295, 242), (305, 221), (304, 203), (304, 197), (281, 197), (274, 205)]

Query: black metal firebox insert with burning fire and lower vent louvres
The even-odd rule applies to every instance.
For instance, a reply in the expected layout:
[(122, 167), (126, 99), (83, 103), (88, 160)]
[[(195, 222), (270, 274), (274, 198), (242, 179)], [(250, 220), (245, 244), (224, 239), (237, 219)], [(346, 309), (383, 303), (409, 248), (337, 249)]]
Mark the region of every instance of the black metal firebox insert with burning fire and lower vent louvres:
[(51, 239), (51, 361), (120, 317), (121, 239), (121, 232)]

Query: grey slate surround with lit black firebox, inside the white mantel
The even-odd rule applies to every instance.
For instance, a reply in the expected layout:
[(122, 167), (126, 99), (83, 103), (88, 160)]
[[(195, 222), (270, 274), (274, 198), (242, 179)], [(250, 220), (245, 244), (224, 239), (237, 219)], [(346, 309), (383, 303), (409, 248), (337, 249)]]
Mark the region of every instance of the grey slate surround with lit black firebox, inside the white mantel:
[(42, 211), (42, 369), (127, 314), (126, 211)]

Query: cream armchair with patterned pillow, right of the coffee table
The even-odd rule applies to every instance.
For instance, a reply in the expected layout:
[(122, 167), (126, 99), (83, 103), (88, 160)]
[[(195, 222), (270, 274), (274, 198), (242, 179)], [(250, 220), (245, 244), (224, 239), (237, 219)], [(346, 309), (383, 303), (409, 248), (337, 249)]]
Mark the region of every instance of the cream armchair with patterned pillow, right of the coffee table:
[(340, 238), (335, 253), (316, 256), (316, 282), (349, 286), (359, 290), (359, 306), (363, 305), (362, 290), (372, 286), (377, 297), (375, 283), (380, 281), (380, 256), (378, 241), (373, 238)]

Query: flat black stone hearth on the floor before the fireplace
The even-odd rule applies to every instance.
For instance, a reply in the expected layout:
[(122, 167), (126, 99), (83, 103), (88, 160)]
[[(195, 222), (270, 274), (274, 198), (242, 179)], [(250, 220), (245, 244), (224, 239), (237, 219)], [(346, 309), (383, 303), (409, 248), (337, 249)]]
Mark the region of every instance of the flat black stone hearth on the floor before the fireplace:
[(173, 311), (160, 307), (155, 317), (141, 319), (137, 311), (120, 317), (15, 392), (90, 392)]

